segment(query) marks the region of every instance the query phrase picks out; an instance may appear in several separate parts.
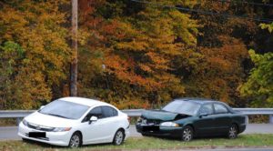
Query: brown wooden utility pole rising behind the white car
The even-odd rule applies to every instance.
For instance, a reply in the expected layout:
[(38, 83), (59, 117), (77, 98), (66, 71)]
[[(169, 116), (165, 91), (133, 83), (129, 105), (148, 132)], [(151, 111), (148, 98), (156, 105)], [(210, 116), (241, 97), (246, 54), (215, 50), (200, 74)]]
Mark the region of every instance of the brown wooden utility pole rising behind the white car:
[(71, 3), (73, 58), (70, 65), (70, 96), (77, 96), (77, 0), (71, 0)]

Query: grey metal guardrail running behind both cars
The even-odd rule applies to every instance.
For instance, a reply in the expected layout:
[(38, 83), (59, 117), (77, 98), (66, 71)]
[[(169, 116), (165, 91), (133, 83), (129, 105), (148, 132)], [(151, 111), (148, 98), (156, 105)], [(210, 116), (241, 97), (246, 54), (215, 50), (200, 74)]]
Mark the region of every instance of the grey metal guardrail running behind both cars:
[[(235, 111), (240, 111), (247, 116), (252, 115), (268, 115), (269, 123), (273, 124), (273, 108), (233, 108)], [(144, 109), (127, 109), (122, 110), (128, 116), (136, 117), (141, 116)], [(16, 118), (17, 122), (20, 121), (20, 118), (30, 115), (35, 112), (35, 110), (0, 110), (0, 118)]]

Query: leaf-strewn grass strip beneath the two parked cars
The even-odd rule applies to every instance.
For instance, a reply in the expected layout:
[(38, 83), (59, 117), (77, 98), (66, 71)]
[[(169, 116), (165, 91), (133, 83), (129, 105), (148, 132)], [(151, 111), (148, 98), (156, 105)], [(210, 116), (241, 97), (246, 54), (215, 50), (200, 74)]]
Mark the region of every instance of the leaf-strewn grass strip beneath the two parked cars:
[(182, 142), (177, 139), (157, 138), (157, 137), (130, 137), (122, 146), (111, 144), (89, 145), (80, 148), (68, 148), (60, 146), (50, 146), (33, 141), (0, 141), (0, 150), (43, 150), (43, 151), (62, 151), (62, 150), (134, 150), (134, 149), (195, 149), (195, 148), (223, 148), (223, 147), (267, 147), (273, 146), (273, 135), (240, 135), (237, 139), (227, 138), (197, 138), (191, 142)]

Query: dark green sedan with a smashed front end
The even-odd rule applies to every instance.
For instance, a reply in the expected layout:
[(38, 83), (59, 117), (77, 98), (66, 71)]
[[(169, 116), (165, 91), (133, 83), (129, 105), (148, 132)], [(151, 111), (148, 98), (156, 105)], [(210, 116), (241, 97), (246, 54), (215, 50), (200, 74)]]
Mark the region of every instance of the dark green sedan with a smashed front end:
[(225, 103), (179, 98), (160, 110), (146, 110), (136, 122), (143, 136), (174, 136), (190, 141), (197, 136), (227, 136), (236, 138), (246, 129), (245, 116)]

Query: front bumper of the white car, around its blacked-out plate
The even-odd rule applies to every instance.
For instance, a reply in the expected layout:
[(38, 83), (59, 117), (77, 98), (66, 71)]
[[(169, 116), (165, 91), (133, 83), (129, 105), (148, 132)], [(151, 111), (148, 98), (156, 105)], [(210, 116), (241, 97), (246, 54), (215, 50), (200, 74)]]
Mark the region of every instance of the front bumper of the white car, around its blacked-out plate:
[(72, 131), (68, 132), (45, 132), (45, 138), (35, 138), (29, 137), (29, 132), (41, 132), (36, 129), (29, 128), (25, 126), (22, 122), (18, 126), (18, 136), (25, 139), (35, 140), (38, 142), (43, 142), (55, 146), (68, 146), (70, 137), (72, 136)]

